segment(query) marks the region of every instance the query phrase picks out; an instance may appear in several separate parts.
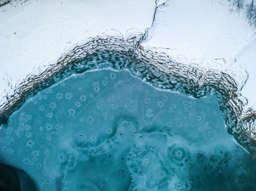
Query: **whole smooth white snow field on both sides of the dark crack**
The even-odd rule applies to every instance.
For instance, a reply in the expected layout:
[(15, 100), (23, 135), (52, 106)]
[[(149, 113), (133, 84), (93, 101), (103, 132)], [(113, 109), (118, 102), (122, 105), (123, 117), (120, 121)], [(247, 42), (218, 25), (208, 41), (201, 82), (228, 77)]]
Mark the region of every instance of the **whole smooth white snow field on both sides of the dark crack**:
[(246, 69), (249, 78), (242, 93), (248, 106), (256, 105), (255, 26), (249, 26), (244, 12), (236, 12), (228, 1), (21, 2), (0, 7), (0, 105), (28, 74), (44, 71), (89, 37), (111, 29), (124, 36), (131, 28), (144, 32), (153, 20), (143, 46), (159, 47), (187, 63), (222, 69), (241, 84)]

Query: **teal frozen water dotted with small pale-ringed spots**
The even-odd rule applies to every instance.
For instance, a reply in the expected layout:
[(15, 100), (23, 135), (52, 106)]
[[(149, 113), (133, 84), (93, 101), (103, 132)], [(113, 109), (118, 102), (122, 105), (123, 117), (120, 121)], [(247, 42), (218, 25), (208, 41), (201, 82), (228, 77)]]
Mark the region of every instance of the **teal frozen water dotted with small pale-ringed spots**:
[(158, 90), (128, 71), (74, 74), (0, 130), (1, 163), (38, 190), (256, 190), (254, 157), (217, 97)]

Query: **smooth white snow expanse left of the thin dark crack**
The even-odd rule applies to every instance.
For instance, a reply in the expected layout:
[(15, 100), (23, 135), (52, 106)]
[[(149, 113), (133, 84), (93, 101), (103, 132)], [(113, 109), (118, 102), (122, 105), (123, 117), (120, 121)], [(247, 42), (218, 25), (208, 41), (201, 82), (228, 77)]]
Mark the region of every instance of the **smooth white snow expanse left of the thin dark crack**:
[(110, 29), (144, 32), (154, 9), (155, 2), (146, 0), (13, 1), (0, 7), (0, 104), (27, 75), (44, 71), (89, 37)]

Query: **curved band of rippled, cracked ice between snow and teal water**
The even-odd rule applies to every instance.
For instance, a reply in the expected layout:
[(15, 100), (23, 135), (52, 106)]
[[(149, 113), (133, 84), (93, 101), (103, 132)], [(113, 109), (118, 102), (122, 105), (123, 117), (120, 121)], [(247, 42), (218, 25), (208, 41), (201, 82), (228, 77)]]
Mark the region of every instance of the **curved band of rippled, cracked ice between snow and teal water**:
[(215, 93), (225, 114), (228, 133), (247, 150), (256, 150), (256, 112), (245, 109), (247, 101), (239, 93), (236, 80), (217, 69), (196, 63), (180, 63), (165, 52), (139, 44), (141, 36), (97, 36), (75, 47), (39, 75), (20, 84), (7, 102), (0, 106), (0, 120), (7, 122), (30, 96), (73, 73), (99, 69), (127, 69), (154, 87), (184, 92), (195, 98)]

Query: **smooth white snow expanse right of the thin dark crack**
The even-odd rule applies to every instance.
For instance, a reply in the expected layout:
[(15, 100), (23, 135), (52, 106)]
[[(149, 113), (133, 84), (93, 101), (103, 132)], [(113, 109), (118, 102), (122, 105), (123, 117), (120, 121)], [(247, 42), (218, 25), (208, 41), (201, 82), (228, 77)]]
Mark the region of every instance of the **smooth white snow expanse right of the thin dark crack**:
[(249, 106), (256, 103), (256, 35), (245, 13), (232, 2), (172, 0), (157, 9), (154, 27), (144, 46), (165, 47), (171, 55), (214, 69), (241, 82)]

